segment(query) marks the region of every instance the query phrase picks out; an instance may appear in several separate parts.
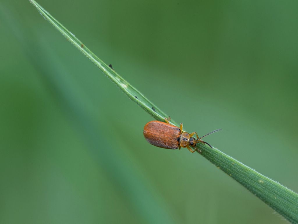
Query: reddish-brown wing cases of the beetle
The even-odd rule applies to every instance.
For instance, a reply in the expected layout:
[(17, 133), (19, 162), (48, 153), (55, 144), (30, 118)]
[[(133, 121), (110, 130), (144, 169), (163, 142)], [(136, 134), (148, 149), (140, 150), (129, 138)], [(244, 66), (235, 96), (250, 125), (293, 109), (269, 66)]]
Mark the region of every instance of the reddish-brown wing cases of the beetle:
[(152, 145), (165, 149), (178, 149), (179, 127), (160, 121), (150, 121), (144, 127), (145, 139)]

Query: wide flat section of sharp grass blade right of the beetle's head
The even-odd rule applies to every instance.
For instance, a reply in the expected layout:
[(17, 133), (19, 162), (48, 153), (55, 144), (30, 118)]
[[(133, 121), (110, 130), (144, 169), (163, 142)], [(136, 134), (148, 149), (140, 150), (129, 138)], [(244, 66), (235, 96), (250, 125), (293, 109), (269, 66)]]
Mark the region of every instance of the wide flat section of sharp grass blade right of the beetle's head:
[(202, 155), (238, 181), (291, 223), (298, 223), (298, 194), (216, 148), (202, 146)]

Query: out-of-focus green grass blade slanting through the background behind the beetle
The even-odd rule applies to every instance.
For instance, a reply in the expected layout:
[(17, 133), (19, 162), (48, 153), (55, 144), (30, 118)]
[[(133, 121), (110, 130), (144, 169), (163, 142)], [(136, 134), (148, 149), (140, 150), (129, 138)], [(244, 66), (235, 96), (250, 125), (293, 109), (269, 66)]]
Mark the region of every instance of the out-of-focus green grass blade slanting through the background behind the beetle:
[[(1, 17), (3, 15), (1, 12), (3, 11), (1, 11), (0, 3), (0, 19), (3, 18)], [(126, 212), (133, 211), (131, 214), (135, 220), (140, 220), (140, 223), (179, 223), (177, 217), (168, 209), (171, 205), (164, 201), (163, 197), (159, 196), (150, 180), (144, 176), (141, 169), (138, 169), (134, 158), (126, 153), (126, 150), (121, 150), (120, 153), (114, 150), (99, 150), (111, 145), (109, 139), (98, 136), (98, 133), (102, 130), (102, 126), (99, 125), (102, 122), (100, 120), (105, 120), (105, 118), (95, 119), (98, 113), (95, 112), (94, 114), (93, 104), (87, 102), (89, 98), (85, 97), (82, 99), (82, 96), (79, 96), (78, 87), (72, 80), (67, 79), (70, 74), (67, 74), (68, 71), (65, 71), (62, 61), (52, 51), (51, 46), (43, 40), (36, 41), (32, 39), (31, 35), (37, 35), (35, 30), (21, 26), (18, 23), (18, 21), (21, 21), (18, 15), (13, 14), (9, 10), (5, 12), (7, 13), (7, 18), (4, 17), (4, 21), (2, 20), (7, 26), (5, 28), (11, 29), (18, 38), (18, 42), (21, 43), (27, 58), (38, 71), (43, 88), (48, 90), (55, 102), (58, 103), (59, 108), (67, 114), (66, 119), (75, 125), (75, 130), (78, 131), (80, 138), (84, 140), (91, 158), (98, 164), (100, 174), (96, 175), (101, 175), (108, 182), (117, 186), (118, 192), (115, 195), (117, 195), (119, 201), (124, 202), (128, 207)], [(8, 22), (9, 25), (7, 25)], [(30, 34), (30, 37), (27, 36), (28, 34)], [(33, 45), (35, 46), (34, 49), (39, 49), (38, 52), (32, 50)], [(53, 64), (55, 66), (52, 66)], [(105, 129), (105, 132), (108, 131), (110, 130)], [(117, 140), (114, 140), (114, 144), (117, 144)], [(63, 167), (60, 169), (63, 170)], [(69, 177), (65, 178), (67, 180)], [(74, 186), (74, 188), (76, 187), (80, 188), (80, 186)], [(83, 189), (80, 190), (84, 191)], [(78, 195), (80, 193), (77, 192)], [(99, 192), (99, 195), (105, 194), (104, 191)], [(59, 198), (62, 199), (63, 196)], [(94, 195), (94, 198), (96, 198), (96, 195)], [(107, 200), (110, 199), (107, 197)], [(53, 198), (53, 201), (57, 203), (55, 198)], [(72, 202), (72, 200), (68, 201), (70, 204)], [(50, 202), (47, 201), (47, 203)], [(90, 203), (92, 204), (93, 201)], [(117, 200), (113, 199), (113, 203), (116, 204)], [(57, 205), (59, 207), (59, 203)], [(105, 220), (104, 213), (106, 211), (100, 206), (105, 206), (106, 209), (110, 210), (111, 202), (108, 202), (108, 205), (105, 200), (97, 202), (96, 212), (97, 215), (100, 214), (101, 220)], [(80, 206), (75, 207), (80, 209)], [(90, 208), (86, 207), (84, 209), (89, 210)], [(73, 211), (72, 208), (70, 210)], [(84, 213), (84, 210), (80, 211)], [(47, 212), (51, 213), (49, 208), (47, 208)], [(0, 221), (0, 223), (5, 222)]]

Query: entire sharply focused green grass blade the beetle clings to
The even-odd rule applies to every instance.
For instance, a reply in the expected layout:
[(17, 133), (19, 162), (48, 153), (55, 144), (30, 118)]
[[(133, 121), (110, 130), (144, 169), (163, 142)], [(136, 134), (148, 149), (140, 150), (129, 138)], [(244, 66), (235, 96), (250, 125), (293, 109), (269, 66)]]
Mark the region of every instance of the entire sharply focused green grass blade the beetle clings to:
[[(156, 120), (163, 121), (168, 117), (153, 103), (151, 103), (143, 94), (131, 86), (126, 80), (120, 77), (113, 69), (107, 66), (102, 60), (94, 55), (79, 39), (69, 32), (62, 24), (53, 18), (34, 0), (30, 2), (37, 10), (56, 27), (77, 49), (88, 57), (100, 70), (105, 73), (112, 82), (114, 82), (122, 91), (128, 95), (134, 102), (141, 106)], [(154, 108), (154, 109), (153, 109)], [(177, 125), (173, 120), (173, 124)], [(215, 164), (229, 176), (234, 178), (246, 189), (268, 204), (275, 211), (283, 215), (291, 223), (298, 223), (298, 194), (258, 173), (254, 169), (247, 167), (234, 158), (226, 155), (218, 149), (201, 145), (202, 155), (210, 162)]]

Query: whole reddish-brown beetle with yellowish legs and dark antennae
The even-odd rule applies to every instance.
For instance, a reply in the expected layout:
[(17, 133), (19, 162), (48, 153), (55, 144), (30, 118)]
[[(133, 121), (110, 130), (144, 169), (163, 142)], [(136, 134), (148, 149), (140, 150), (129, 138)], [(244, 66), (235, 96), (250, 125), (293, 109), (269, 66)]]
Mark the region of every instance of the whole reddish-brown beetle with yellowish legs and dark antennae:
[[(180, 124), (180, 127), (175, 125), (171, 125), (167, 118), (164, 119), (165, 122), (161, 121), (150, 121), (144, 127), (144, 137), (145, 139), (152, 145), (157, 147), (165, 148), (165, 149), (181, 149), (187, 148), (190, 152), (194, 153), (198, 150), (196, 147), (197, 143), (201, 142), (212, 146), (205, 141), (202, 141), (202, 138), (220, 131), (221, 129), (214, 130), (203, 137), (199, 138), (198, 134), (194, 131), (192, 133), (188, 133), (183, 131), (183, 124)], [(193, 136), (196, 135), (197, 139)], [(191, 147), (194, 147), (193, 150)], [(201, 150), (198, 150), (201, 153)]]

